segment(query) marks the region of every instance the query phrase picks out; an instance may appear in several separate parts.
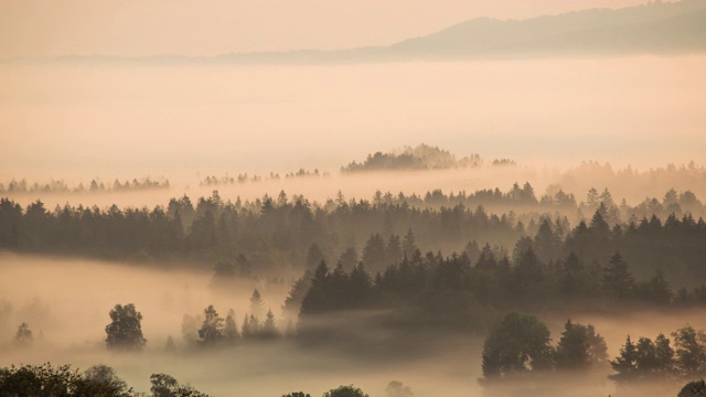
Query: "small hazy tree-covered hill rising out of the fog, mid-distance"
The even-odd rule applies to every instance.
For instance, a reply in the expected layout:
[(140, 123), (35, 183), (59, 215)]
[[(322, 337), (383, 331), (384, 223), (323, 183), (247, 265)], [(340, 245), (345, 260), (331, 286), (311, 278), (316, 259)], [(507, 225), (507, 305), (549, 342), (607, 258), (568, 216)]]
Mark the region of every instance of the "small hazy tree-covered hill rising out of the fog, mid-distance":
[(451, 168), (480, 167), (480, 155), (472, 154), (457, 160), (448, 150), (425, 143), (416, 148), (405, 147), (398, 153), (376, 152), (368, 154), (362, 163), (355, 161), (341, 167), (341, 172), (361, 171), (408, 171), (408, 170), (447, 170)]

